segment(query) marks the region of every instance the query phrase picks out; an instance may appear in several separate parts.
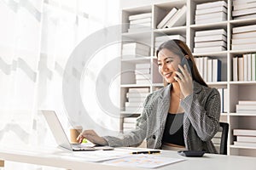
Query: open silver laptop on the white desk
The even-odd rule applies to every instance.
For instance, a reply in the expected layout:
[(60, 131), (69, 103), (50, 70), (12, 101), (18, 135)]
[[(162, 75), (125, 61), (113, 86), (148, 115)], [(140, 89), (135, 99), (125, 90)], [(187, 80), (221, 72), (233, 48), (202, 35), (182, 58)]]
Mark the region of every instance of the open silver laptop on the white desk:
[(58, 116), (55, 111), (41, 111), (46, 122), (49, 125), (51, 132), (55, 137), (56, 143), (64, 149), (73, 151), (90, 151), (90, 150), (113, 150), (113, 147), (102, 146), (95, 144), (70, 144), (67, 135), (61, 126)]

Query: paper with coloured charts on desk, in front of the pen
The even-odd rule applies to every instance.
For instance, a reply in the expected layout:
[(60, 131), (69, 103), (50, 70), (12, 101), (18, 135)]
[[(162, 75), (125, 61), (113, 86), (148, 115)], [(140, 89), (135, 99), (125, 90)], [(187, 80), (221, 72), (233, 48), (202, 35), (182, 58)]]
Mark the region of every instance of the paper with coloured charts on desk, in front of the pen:
[(184, 159), (140, 154), (104, 161), (103, 163), (113, 166), (155, 168), (176, 163), (178, 161), (184, 161)]

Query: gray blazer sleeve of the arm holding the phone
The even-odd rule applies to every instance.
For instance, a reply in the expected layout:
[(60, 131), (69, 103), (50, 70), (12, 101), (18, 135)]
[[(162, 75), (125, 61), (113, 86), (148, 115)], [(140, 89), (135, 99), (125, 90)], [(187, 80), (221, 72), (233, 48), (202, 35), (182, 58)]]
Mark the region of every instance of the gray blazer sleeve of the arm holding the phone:
[(211, 140), (219, 129), (220, 94), (216, 88), (208, 91), (190, 94), (181, 102), (185, 118), (202, 141)]

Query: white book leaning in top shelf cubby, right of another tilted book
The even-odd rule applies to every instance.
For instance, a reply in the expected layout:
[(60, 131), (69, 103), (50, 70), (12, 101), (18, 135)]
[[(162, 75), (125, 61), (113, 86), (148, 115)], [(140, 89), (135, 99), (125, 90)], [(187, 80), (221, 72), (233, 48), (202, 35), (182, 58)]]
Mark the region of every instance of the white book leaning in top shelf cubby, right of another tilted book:
[(173, 26), (183, 26), (186, 23), (187, 6), (183, 5), (177, 12), (167, 21), (165, 28), (172, 28)]

